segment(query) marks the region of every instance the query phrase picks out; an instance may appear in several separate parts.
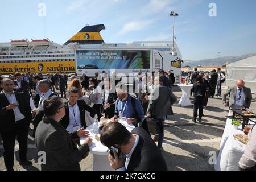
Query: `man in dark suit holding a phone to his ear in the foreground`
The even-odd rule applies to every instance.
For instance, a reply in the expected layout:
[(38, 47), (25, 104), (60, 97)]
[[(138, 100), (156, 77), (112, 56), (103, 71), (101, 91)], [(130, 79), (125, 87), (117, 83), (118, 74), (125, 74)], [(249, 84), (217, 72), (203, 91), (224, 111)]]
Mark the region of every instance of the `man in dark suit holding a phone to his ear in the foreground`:
[[(101, 143), (106, 147), (118, 147), (121, 154), (113, 150), (109, 154), (110, 166), (127, 171), (166, 171), (167, 164), (155, 142), (142, 127), (135, 127), (131, 133), (119, 122), (110, 122), (101, 132)], [(125, 155), (123, 155), (125, 154)]]

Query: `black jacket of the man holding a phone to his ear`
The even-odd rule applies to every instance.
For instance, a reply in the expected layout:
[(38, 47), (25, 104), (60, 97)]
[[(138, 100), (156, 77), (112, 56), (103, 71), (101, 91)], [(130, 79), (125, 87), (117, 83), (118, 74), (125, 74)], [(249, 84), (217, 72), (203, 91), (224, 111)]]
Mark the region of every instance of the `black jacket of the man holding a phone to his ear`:
[(167, 164), (155, 142), (142, 127), (131, 134), (139, 135), (139, 142), (131, 155), (127, 171), (167, 171)]

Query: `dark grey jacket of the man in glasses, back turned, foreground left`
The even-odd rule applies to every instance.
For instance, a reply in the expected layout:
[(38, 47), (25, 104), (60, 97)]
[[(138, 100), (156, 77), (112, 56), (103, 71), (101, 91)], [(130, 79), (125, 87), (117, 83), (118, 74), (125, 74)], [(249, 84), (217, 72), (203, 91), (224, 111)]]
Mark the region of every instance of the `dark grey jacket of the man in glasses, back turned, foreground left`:
[(38, 152), (46, 152), (42, 171), (80, 171), (79, 162), (88, 156), (89, 146), (84, 143), (77, 148), (73, 138), (78, 138), (76, 131), (68, 133), (53, 119), (42, 119), (35, 136)]

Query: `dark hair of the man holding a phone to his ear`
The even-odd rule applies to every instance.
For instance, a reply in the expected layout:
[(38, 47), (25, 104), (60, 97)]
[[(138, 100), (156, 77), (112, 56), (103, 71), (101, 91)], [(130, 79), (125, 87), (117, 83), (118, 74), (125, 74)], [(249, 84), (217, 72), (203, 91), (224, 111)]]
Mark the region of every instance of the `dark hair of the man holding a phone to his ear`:
[(131, 133), (119, 122), (106, 124), (101, 131), (101, 143), (110, 148), (114, 144), (126, 145), (131, 138)]

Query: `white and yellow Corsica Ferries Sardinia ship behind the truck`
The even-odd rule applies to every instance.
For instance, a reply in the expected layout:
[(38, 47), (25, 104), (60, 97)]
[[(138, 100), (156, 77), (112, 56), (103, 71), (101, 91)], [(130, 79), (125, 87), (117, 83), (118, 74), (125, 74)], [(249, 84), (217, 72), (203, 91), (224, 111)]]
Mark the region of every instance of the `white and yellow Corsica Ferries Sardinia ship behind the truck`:
[[(171, 41), (109, 44), (102, 39), (101, 30), (105, 30), (104, 24), (85, 26), (63, 45), (49, 39), (11, 40), (9, 43), (0, 43), (0, 74), (74, 73), (76, 72), (75, 52), (77, 49), (152, 49), (154, 54), (158, 52), (172, 54), (173, 60), (168, 61), (172, 67), (180, 68), (182, 56), (176, 43), (174, 43), (175, 52), (171, 52)], [(166, 70), (164, 64), (155, 63), (155, 65), (158, 65), (158, 69)]]

